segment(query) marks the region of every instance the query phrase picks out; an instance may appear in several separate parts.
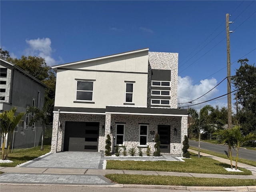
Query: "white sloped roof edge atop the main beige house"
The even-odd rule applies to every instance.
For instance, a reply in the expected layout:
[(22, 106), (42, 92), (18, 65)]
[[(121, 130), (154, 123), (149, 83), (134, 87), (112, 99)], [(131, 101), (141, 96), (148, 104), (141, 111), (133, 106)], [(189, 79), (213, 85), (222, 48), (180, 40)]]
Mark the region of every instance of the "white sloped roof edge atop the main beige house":
[(107, 56), (102, 56), (102, 57), (91, 58), (91, 59), (82, 60), (82, 61), (65, 63), (65, 64), (52, 66), (52, 69), (56, 71), (57, 68), (59, 68), (59, 67), (67, 67), (67, 66), (80, 64), (80, 63), (87, 63), (87, 62), (92, 62), (92, 61), (97, 61), (97, 60), (102, 60), (102, 59), (108, 59), (108, 58), (113, 58), (113, 57), (118, 57), (118, 56), (123, 56), (123, 55), (128, 55), (128, 54), (134, 54), (134, 53), (139, 53), (139, 52), (148, 51), (148, 50), (149, 50), (149, 48), (143, 48), (143, 49), (138, 49), (138, 50), (133, 50), (133, 51), (128, 51), (128, 52), (122, 52), (122, 53), (118, 53), (118, 54), (112, 54), (112, 55), (107, 55)]

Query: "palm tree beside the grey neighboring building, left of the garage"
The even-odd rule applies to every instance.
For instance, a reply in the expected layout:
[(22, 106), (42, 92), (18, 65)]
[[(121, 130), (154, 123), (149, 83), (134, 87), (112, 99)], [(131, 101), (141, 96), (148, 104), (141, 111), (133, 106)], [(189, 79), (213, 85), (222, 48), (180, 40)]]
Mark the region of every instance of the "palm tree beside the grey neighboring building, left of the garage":
[(29, 125), (31, 126), (33, 123), (41, 122), (42, 124), (42, 141), (41, 141), (41, 150), (44, 150), (44, 132), (46, 125), (50, 124), (50, 114), (52, 112), (53, 100), (48, 100), (44, 103), (42, 109), (29, 106), (26, 110), (26, 113), (33, 113), (34, 116), (30, 119)]

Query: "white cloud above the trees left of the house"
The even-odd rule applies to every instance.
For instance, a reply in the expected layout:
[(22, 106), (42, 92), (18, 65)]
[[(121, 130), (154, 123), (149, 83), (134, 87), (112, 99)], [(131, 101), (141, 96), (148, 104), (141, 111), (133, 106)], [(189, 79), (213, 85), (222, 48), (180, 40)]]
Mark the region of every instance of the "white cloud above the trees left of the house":
[(45, 59), (46, 63), (50, 66), (56, 64), (56, 60), (52, 58), (52, 48), (50, 38), (38, 38), (26, 40), (26, 43), (29, 45), (29, 48), (25, 50), (25, 54), (32, 56), (41, 56)]

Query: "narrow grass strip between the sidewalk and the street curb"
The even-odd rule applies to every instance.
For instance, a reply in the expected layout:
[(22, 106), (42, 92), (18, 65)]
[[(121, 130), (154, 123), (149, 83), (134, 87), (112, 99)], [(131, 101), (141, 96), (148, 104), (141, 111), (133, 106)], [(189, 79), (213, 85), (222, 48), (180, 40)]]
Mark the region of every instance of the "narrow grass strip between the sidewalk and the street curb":
[(173, 185), (173, 186), (254, 186), (254, 179), (198, 178), (179, 176), (152, 176), (106, 174), (106, 178), (119, 184)]

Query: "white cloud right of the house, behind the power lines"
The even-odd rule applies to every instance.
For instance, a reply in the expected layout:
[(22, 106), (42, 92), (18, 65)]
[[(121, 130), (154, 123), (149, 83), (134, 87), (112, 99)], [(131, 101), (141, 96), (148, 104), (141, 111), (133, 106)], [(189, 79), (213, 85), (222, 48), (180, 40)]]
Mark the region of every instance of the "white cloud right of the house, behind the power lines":
[[(217, 85), (217, 80), (215, 78), (212, 79), (204, 79), (200, 81), (200, 84), (193, 85), (193, 81), (189, 76), (186, 76), (184, 78), (178, 76), (178, 103), (180, 103), (180, 107), (185, 107), (192, 104), (197, 104), (209, 99), (214, 98), (214, 95), (218, 92), (217, 88), (214, 88), (214, 86)], [(214, 88), (212, 91), (210, 91), (208, 94), (204, 95), (206, 92)], [(204, 95), (204, 96), (202, 96)], [(199, 98), (196, 101), (193, 101), (192, 104), (188, 103), (192, 100)], [(200, 109), (206, 104), (209, 104), (207, 102), (203, 104), (198, 104), (195, 106), (192, 106), (192, 108)]]

